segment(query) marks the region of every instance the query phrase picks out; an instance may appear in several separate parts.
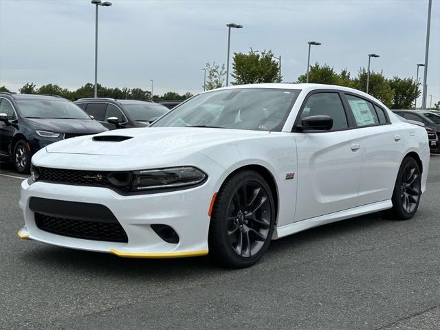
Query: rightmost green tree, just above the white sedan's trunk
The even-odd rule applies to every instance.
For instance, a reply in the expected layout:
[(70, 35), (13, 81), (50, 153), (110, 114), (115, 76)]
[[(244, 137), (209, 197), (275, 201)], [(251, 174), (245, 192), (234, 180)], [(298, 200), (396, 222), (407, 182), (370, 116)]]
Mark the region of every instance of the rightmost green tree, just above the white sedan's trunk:
[(390, 87), (394, 90), (393, 109), (412, 109), (415, 98), (421, 94), (417, 90), (417, 83), (412, 78), (393, 77), (388, 80)]

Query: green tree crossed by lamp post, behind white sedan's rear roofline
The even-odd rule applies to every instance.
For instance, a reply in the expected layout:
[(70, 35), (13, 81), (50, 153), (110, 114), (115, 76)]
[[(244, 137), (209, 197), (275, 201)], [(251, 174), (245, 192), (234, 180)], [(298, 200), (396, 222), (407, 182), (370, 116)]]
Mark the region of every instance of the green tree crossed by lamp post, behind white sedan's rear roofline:
[[(366, 69), (362, 67), (358, 76), (353, 80), (354, 88), (360, 91), (366, 89)], [(394, 90), (382, 72), (370, 72), (369, 94), (381, 100), (387, 107), (393, 108)]]

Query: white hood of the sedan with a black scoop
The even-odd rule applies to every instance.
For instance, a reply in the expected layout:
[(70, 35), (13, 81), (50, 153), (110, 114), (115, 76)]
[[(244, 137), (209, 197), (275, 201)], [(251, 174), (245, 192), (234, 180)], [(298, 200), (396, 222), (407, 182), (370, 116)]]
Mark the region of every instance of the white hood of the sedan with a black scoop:
[[(46, 147), (48, 153), (165, 157), (196, 153), (216, 144), (234, 143), (270, 134), (267, 131), (192, 127), (121, 129), (93, 136), (74, 137)], [(126, 137), (123, 141), (119, 137)], [(98, 141), (99, 139), (99, 141)], [(107, 140), (107, 141), (106, 141)]]

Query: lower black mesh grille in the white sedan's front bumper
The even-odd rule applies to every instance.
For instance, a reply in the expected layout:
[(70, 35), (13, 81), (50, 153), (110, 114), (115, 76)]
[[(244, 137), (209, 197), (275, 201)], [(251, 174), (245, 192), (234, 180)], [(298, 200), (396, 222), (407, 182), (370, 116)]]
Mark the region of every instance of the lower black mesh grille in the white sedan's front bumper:
[(127, 243), (124, 228), (118, 222), (96, 222), (51, 217), (35, 213), (36, 226), (45, 232), (76, 239)]

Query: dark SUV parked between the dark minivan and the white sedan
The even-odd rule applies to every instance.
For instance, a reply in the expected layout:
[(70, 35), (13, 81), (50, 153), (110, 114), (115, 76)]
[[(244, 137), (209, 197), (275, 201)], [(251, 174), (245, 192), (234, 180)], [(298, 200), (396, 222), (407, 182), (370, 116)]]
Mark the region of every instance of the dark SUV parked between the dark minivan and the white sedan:
[(74, 103), (108, 129), (146, 127), (169, 111), (154, 102), (114, 98), (80, 98)]

